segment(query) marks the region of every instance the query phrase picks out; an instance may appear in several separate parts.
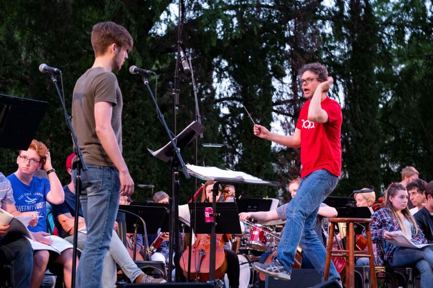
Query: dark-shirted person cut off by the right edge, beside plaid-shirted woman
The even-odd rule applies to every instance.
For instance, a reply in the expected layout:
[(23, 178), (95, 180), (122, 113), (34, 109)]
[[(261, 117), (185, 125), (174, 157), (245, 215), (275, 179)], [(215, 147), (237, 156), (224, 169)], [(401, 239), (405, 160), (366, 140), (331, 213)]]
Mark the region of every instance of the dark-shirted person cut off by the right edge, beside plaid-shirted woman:
[(413, 215), (429, 244), (433, 244), (433, 181), (424, 190), (426, 205)]

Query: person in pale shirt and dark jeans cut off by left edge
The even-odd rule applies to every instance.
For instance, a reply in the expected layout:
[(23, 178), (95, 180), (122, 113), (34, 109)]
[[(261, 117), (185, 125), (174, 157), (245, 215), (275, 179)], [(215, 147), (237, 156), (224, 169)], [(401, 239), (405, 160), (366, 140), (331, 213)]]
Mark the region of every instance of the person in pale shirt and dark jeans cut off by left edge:
[[(1, 209), (13, 216), (33, 216), (30, 225), (36, 226), (36, 212), (19, 212), (15, 207), (13, 191), (9, 180), (0, 173)], [(9, 232), (10, 225), (0, 225), (0, 265), (10, 264), (10, 285), (15, 288), (30, 287), (33, 269), (33, 249), (21, 234)]]

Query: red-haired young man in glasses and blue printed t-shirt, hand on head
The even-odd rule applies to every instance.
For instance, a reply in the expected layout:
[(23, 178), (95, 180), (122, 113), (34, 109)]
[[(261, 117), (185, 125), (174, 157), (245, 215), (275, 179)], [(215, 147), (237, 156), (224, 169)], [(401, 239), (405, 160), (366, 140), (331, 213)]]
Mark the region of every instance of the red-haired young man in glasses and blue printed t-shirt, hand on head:
[[(64, 201), (62, 184), (51, 165), (51, 155), (45, 144), (32, 140), (28, 150), (20, 150), (17, 157), (18, 170), (10, 174), (9, 179), (14, 190), (14, 199), (19, 211), (36, 211), (41, 216), (35, 227), (30, 227), (36, 241), (50, 244), (46, 223), (46, 201), (60, 204)], [(44, 169), (48, 179), (34, 175), (36, 170)], [(37, 250), (33, 254), (33, 272), (31, 286), (39, 288), (42, 285), (47, 266), (58, 263), (63, 266), (63, 278), (67, 288), (71, 286), (72, 249), (66, 249), (59, 255), (48, 250)]]

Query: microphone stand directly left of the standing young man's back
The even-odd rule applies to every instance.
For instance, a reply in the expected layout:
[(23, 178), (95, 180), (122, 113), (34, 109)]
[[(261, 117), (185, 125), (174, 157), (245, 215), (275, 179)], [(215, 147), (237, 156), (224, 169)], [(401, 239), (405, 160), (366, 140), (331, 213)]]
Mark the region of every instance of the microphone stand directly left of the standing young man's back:
[[(51, 80), (56, 86), (57, 93), (60, 97), (60, 102), (62, 103), (64, 117), (66, 119), (66, 123), (68, 125), (69, 131), (72, 135), (72, 141), (76, 147), (75, 155), (78, 157), (78, 160), (74, 162), (74, 167), (77, 169), (77, 174), (75, 176), (75, 218), (74, 218), (74, 243), (72, 249), (72, 280), (71, 280), (71, 288), (75, 288), (75, 273), (76, 273), (76, 264), (77, 264), (77, 234), (78, 234), (78, 211), (79, 211), (79, 201), (80, 201), (80, 191), (81, 191), (81, 170), (87, 171), (86, 163), (83, 159), (83, 153), (81, 152), (80, 146), (78, 145), (77, 135), (75, 134), (74, 129), (72, 128), (71, 117), (68, 115), (66, 106), (64, 105), (64, 95), (62, 97), (62, 93), (60, 92), (59, 85), (57, 84), (57, 78), (54, 73), (51, 73)], [(62, 72), (60, 72), (60, 77), (62, 78)], [(62, 80), (62, 90), (63, 90), (63, 80)]]

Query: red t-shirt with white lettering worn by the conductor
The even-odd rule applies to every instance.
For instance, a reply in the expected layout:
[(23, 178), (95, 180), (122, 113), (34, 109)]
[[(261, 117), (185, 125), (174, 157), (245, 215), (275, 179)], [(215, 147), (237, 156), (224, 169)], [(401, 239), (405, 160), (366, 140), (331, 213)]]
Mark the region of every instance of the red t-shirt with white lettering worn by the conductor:
[(308, 120), (308, 100), (301, 109), (296, 128), (301, 130), (301, 177), (319, 169), (326, 169), (336, 176), (341, 174), (341, 114), (340, 104), (326, 97), (321, 107), (329, 121), (314, 123)]

